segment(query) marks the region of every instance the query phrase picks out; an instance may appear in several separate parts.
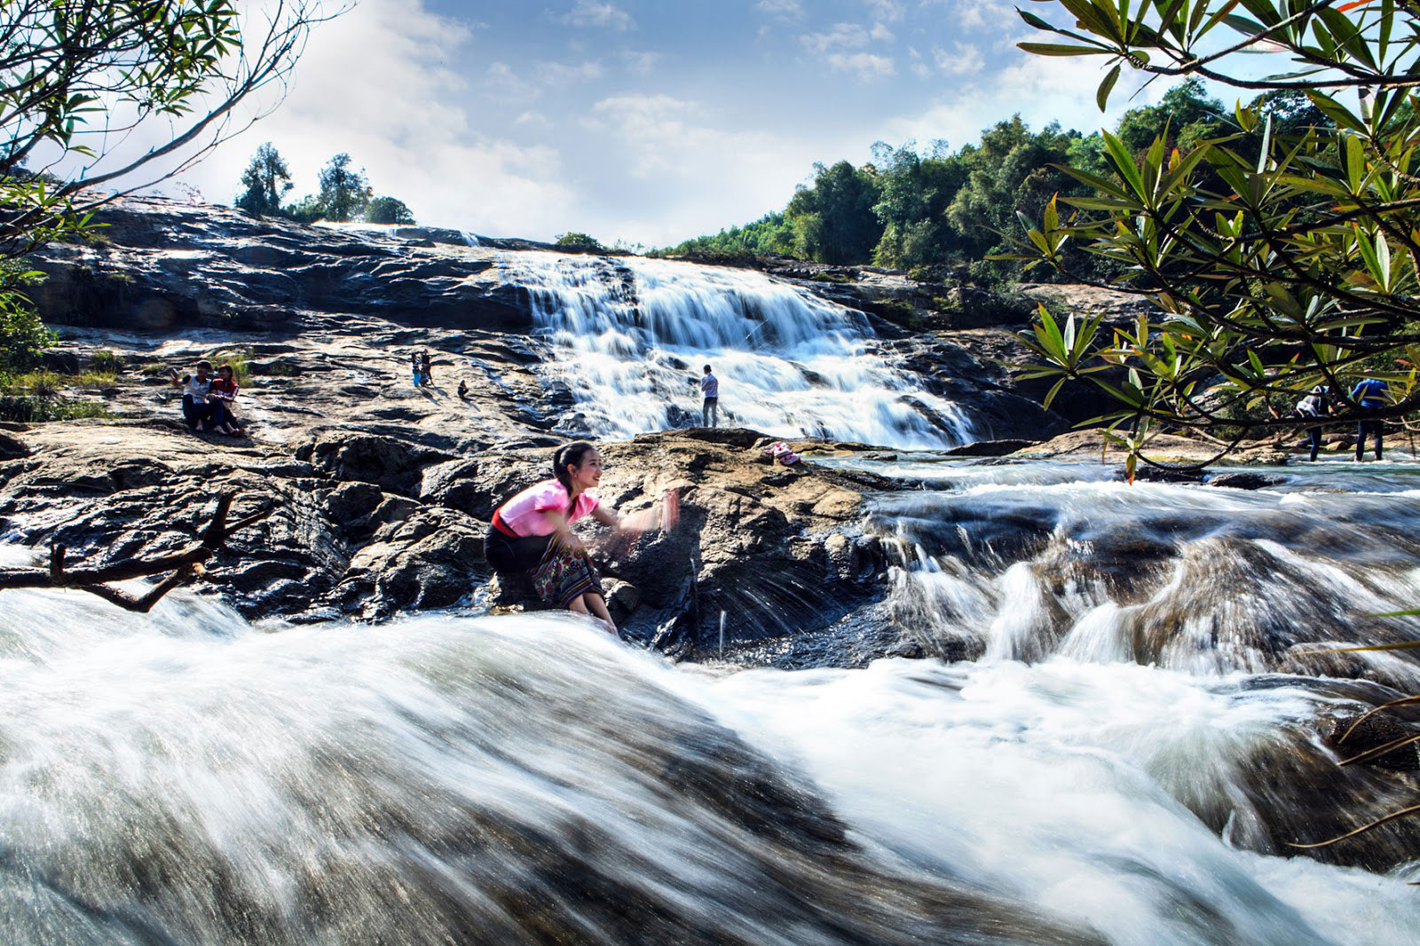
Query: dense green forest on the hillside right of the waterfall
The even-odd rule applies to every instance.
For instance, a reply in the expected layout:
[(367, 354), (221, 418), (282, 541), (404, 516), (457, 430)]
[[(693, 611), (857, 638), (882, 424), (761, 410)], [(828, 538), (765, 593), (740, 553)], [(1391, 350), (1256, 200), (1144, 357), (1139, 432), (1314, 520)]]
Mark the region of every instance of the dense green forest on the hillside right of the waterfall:
[[(1268, 92), (1251, 102), (1271, 118), (1274, 134), (1329, 125), (1304, 92)], [(1187, 153), (1204, 141), (1230, 139), (1240, 155), (1255, 155), (1261, 132), (1244, 134), (1233, 109), (1189, 80), (1157, 105), (1127, 111), (1115, 135), (1133, 152), (1163, 136)], [(991, 259), (1024, 239), (1021, 217), (1039, 220), (1052, 196), (1083, 196), (1092, 187), (1066, 172), (1109, 178), (1103, 136), (1065, 131), (1058, 122), (1038, 132), (1020, 115), (981, 134), (977, 143), (949, 151), (946, 142), (919, 148), (873, 145), (872, 162), (815, 165), (782, 210), (753, 223), (700, 236), (662, 250), (666, 256), (737, 260), (788, 256), (839, 266), (883, 266), (919, 276), (958, 276), (977, 281), (1068, 278), (1048, 267), (1022, 273), (1022, 264)], [(1034, 224), (1032, 224), (1034, 226)], [(1071, 271), (1089, 278), (1113, 274), (1109, 260), (1076, 250)]]

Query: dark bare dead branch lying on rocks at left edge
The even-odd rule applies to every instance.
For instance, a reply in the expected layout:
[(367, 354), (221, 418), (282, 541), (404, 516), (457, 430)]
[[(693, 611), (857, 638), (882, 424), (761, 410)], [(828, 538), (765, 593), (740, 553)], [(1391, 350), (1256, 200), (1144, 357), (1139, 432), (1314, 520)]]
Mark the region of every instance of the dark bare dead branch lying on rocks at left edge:
[[(50, 550), (48, 568), (0, 568), (0, 591), (7, 588), (78, 588), (98, 595), (111, 604), (116, 604), (125, 611), (146, 614), (169, 591), (185, 581), (200, 575), (203, 562), (212, 558), (226, 544), (227, 537), (246, 528), (251, 523), (266, 518), (274, 507), (267, 507), (233, 524), (227, 524), (227, 513), (231, 511), (231, 501), (236, 493), (223, 493), (217, 497), (217, 509), (212, 514), (212, 521), (202, 534), (202, 541), (173, 555), (159, 555), (158, 558), (129, 558), (102, 568), (65, 568), (64, 545), (55, 543)], [(148, 578), (172, 572), (148, 594), (135, 597), (109, 585), (114, 581), (128, 581), (131, 578)]]

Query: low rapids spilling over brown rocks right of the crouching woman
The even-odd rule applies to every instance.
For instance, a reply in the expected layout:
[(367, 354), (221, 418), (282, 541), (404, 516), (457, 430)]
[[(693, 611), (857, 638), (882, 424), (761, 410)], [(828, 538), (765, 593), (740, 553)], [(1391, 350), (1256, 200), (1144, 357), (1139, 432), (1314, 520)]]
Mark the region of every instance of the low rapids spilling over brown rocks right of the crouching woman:
[[(880, 497), (869, 530), (900, 550), (893, 607), (933, 651), (1315, 672), (1325, 660), (1299, 652), (1316, 642), (1394, 643), (1420, 626), (1375, 616), (1420, 601), (1420, 483), (1404, 467), (1308, 470), (1258, 491), (1129, 486), (1078, 463), (917, 473), (941, 489)], [(1410, 659), (1353, 659), (1420, 690)]]

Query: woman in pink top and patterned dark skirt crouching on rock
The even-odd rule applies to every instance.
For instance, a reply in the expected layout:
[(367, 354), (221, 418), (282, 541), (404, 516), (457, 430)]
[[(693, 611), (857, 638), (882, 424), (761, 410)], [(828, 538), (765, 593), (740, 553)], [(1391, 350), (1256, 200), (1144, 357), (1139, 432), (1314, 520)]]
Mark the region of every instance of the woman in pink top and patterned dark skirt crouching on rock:
[(591, 516), (630, 537), (652, 527), (670, 528), (676, 520), (676, 494), (667, 494), (660, 507), (619, 518), (588, 493), (602, 480), (602, 455), (582, 442), (558, 447), (552, 455), (552, 476), (494, 510), (484, 557), (500, 575), (530, 574), (542, 601), (595, 615), (608, 632), (616, 634), (602, 598), (601, 575), (586, 547), (572, 534), (572, 523)]

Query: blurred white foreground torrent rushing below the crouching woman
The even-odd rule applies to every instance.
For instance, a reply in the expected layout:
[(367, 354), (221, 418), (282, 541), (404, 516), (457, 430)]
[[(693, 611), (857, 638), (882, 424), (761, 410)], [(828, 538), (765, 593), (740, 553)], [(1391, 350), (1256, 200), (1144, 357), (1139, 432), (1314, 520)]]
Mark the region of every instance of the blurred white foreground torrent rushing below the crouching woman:
[[(1409, 942), (1190, 814), (1326, 700), (1133, 665), (677, 669), (569, 618), (6, 592), (9, 943)], [(1187, 807), (1186, 807), (1187, 805)]]

